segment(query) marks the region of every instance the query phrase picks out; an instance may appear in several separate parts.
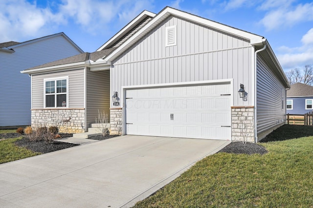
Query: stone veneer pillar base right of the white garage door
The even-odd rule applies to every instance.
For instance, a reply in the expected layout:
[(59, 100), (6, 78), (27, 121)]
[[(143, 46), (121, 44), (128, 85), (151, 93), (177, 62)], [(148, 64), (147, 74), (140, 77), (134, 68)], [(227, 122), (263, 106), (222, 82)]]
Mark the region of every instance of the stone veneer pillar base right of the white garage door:
[(254, 107), (231, 107), (231, 137), (232, 141), (254, 143)]

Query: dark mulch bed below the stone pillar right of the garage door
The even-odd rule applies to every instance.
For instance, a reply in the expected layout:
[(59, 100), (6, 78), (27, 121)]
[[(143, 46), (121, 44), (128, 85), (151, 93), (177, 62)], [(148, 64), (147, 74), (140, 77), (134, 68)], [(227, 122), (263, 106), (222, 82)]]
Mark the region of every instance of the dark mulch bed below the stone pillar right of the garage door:
[(266, 154), (268, 150), (261, 145), (254, 143), (232, 142), (218, 152), (234, 153), (234, 154)]

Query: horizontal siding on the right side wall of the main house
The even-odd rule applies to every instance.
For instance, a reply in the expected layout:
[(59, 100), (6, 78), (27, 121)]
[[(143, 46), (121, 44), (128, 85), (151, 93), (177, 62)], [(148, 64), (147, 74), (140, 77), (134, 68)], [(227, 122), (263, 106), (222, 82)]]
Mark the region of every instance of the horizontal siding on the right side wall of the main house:
[(262, 139), (268, 131), (286, 121), (286, 88), (268, 64), (257, 56), (257, 136)]

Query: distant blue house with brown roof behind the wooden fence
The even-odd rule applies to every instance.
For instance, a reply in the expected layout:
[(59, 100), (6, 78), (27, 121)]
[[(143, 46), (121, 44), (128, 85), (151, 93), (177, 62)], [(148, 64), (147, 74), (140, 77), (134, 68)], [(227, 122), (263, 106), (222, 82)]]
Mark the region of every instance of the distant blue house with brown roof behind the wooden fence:
[(287, 113), (305, 114), (313, 111), (313, 86), (295, 83), (287, 90)]

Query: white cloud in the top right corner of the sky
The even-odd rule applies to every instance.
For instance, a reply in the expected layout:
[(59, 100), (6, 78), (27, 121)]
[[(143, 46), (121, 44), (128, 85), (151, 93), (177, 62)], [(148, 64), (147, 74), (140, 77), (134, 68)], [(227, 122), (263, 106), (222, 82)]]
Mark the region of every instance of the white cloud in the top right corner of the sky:
[(291, 27), (299, 22), (312, 20), (313, 3), (298, 4), (295, 7), (289, 6), (289, 4), (282, 4), (281, 7), (270, 10), (260, 23), (267, 30), (273, 30), (280, 29), (282, 26)]

